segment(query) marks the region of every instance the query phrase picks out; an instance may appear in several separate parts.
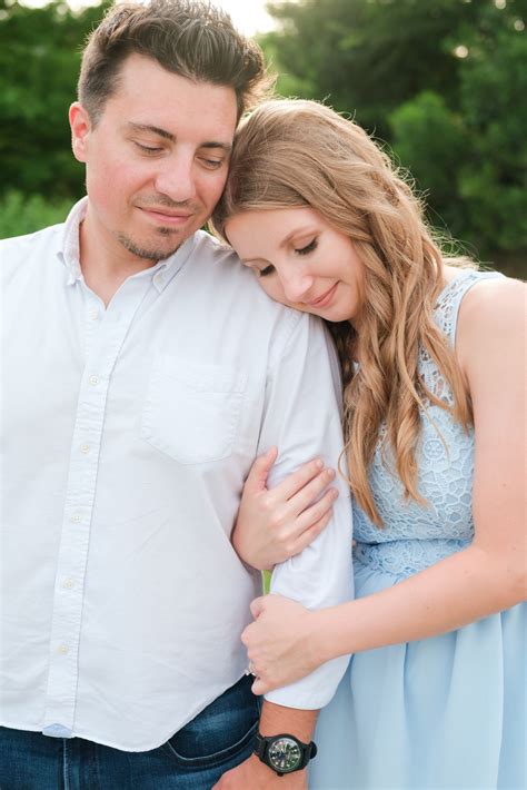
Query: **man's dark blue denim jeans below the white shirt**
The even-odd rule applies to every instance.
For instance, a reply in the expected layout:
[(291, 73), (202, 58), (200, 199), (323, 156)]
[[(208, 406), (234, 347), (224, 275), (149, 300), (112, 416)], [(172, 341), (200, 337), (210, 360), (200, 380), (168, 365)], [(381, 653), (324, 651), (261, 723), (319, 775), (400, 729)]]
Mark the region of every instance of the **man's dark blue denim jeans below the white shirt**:
[(81, 738), (0, 728), (1, 790), (209, 790), (252, 751), (251, 678), (218, 697), (158, 749), (126, 752)]

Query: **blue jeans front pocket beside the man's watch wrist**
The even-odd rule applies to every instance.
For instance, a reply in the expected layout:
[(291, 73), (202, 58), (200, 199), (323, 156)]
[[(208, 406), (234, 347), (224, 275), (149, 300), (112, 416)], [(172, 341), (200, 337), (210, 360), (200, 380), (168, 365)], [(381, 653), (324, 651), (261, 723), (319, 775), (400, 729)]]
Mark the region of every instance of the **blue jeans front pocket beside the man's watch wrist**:
[(252, 679), (242, 678), (165, 743), (181, 767), (213, 768), (249, 747), (259, 721)]

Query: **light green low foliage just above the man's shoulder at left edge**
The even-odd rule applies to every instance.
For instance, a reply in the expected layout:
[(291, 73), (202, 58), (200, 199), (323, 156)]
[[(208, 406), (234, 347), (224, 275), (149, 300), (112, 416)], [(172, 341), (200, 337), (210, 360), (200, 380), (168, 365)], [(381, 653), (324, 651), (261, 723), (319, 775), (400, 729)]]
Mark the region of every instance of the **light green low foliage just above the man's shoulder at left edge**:
[(48, 203), (41, 195), (9, 191), (0, 199), (0, 238), (23, 236), (63, 223), (71, 200)]

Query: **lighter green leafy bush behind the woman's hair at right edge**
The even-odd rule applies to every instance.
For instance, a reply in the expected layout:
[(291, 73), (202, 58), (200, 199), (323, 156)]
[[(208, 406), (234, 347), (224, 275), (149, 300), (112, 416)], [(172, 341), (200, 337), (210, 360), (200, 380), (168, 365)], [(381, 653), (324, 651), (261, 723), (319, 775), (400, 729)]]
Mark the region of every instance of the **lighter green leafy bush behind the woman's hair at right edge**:
[(517, 253), (518, 259), (527, 250), (527, 111), (518, 102), (527, 91), (527, 39), (521, 33), (523, 20), (487, 4), (478, 26), (464, 31), (457, 106), (420, 93), (390, 116), (395, 150), (454, 235), (481, 255)]

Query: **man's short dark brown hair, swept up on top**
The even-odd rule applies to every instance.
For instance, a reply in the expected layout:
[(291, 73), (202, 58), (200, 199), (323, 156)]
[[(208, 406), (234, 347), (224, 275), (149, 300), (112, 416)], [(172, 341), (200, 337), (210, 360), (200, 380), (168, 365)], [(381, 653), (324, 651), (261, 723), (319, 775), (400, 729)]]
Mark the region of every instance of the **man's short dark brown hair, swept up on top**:
[(82, 56), (78, 95), (93, 124), (119, 89), (120, 69), (132, 53), (181, 77), (233, 88), (238, 118), (270, 85), (261, 49), (235, 29), (228, 13), (209, 2), (123, 2), (110, 8)]

